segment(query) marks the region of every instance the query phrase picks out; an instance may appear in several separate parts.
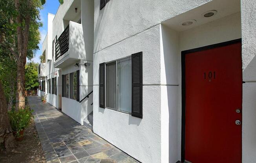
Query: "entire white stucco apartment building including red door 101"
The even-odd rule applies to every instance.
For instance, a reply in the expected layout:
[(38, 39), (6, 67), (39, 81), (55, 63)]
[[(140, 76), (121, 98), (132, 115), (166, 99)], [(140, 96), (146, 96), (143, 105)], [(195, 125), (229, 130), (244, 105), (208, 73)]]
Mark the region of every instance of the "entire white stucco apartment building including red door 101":
[(48, 16), (39, 93), (143, 163), (255, 162), (255, 11), (252, 0), (66, 0)]

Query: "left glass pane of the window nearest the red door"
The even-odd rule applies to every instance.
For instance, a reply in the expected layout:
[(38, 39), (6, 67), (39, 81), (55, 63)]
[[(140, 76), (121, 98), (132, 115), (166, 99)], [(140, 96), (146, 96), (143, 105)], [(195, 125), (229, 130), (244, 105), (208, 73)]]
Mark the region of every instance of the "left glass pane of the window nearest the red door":
[(116, 62), (106, 64), (106, 107), (116, 109)]

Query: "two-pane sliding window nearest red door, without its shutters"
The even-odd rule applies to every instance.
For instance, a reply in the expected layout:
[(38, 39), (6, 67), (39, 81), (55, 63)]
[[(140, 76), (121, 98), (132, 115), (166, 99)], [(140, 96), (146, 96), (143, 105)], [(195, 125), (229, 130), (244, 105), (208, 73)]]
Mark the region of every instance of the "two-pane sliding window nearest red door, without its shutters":
[(131, 57), (106, 64), (106, 107), (132, 112)]

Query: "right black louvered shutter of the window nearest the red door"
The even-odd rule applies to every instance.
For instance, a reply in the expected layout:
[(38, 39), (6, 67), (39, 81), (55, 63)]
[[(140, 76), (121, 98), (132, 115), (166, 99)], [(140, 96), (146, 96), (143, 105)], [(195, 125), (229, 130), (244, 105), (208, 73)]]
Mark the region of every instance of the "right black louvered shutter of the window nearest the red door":
[(142, 52), (132, 54), (132, 116), (142, 118)]

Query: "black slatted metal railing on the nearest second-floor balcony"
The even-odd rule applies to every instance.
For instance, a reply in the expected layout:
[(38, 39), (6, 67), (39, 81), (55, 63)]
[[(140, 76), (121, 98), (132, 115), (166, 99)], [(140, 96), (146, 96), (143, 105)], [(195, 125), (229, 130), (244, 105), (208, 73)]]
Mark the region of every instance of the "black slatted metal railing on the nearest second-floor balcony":
[(69, 49), (69, 25), (55, 42), (55, 61)]

